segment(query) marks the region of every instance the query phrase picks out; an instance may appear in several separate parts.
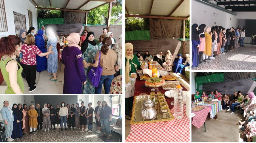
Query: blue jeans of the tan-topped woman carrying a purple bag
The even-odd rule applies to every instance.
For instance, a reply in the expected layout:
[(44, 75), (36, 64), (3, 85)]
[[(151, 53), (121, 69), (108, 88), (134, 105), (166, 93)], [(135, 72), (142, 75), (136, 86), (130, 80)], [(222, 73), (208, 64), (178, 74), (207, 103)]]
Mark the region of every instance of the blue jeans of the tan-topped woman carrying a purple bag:
[(101, 94), (102, 84), (104, 86), (105, 94), (109, 94), (111, 82), (114, 78), (114, 75), (101, 75), (100, 83), (98, 87), (95, 87), (95, 93)]

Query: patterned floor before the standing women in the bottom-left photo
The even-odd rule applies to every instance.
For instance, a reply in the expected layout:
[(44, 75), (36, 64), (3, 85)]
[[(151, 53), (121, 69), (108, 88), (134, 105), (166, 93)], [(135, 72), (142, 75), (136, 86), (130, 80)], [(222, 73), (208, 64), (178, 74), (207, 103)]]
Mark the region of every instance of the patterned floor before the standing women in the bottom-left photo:
[(100, 134), (94, 132), (81, 132), (80, 129), (60, 131), (60, 128), (50, 131), (40, 130), (33, 134), (26, 134), (13, 142), (104, 142)]

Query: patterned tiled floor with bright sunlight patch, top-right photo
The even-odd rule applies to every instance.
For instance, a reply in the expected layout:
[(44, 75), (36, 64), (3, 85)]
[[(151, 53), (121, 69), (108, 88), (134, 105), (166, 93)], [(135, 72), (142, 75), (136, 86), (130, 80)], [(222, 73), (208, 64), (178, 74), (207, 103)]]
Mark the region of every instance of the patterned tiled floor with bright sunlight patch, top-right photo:
[(244, 44), (192, 70), (256, 70), (256, 45)]

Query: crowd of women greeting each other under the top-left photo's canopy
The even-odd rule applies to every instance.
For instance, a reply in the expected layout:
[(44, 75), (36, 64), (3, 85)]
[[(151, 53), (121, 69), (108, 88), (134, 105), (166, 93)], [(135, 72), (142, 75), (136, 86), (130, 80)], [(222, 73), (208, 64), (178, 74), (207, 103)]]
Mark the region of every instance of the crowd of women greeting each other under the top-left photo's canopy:
[[(38, 30), (35, 37), (34, 31), (35, 28), (30, 27), (27, 33), (20, 30), (19, 37), (9, 35), (0, 39), (0, 68), (8, 86), (5, 93), (24, 93), (22, 73), (28, 83), (29, 92), (36, 89), (36, 71), (41, 73), (47, 69), (51, 73), (49, 80), (57, 81), (58, 52), (54, 30), (47, 30), (47, 48), (43, 38), (44, 31)], [(97, 45), (94, 33), (85, 30), (81, 47), (78, 45), (79, 33), (71, 33), (66, 38), (68, 45), (62, 52), (62, 62), (65, 65), (63, 93), (100, 94), (102, 84), (105, 93), (109, 93), (113, 78), (122, 75), (122, 35), (117, 42), (112, 32), (103, 34), (100, 38)], [(100, 79), (88, 77), (87, 74), (93, 67), (102, 68), (102, 72), (96, 73), (96, 77)], [(91, 82), (89, 79), (96, 81)]]

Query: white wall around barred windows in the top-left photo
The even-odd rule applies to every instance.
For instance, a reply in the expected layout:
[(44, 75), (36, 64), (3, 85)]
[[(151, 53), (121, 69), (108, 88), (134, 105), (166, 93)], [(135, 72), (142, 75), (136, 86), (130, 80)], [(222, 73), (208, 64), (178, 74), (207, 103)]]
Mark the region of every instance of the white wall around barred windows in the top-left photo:
[(37, 10), (29, 0), (4, 0), (8, 32), (0, 32), (0, 37), (15, 35), (13, 12), (26, 15), (26, 31), (29, 30), (28, 10), (32, 11), (33, 27), (37, 31)]

